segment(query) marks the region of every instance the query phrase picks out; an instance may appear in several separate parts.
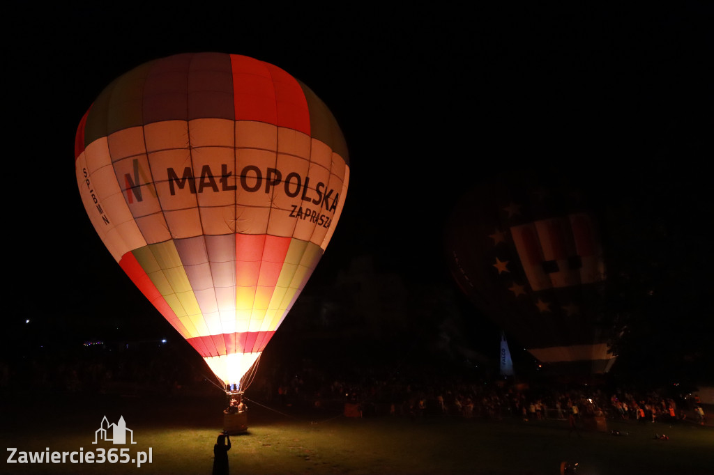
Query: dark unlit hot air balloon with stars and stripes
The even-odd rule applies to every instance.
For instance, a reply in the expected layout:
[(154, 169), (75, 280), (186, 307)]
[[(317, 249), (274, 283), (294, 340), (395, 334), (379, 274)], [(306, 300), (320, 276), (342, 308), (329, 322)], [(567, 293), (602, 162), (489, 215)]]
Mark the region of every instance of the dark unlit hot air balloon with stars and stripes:
[(453, 210), (446, 252), (478, 310), (553, 373), (587, 379), (615, 361), (598, 220), (580, 190), (515, 173), (478, 185)]

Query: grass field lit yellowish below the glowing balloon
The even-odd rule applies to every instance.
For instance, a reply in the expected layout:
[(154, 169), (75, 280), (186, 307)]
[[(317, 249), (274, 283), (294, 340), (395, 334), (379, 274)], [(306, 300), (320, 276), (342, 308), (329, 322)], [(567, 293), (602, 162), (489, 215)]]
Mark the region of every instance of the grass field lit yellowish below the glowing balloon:
[[(98, 452), (128, 448), (151, 463), (9, 464), (2, 474), (210, 474), (223, 397), (104, 397), (2, 405), (0, 443), (20, 452)], [(696, 424), (608, 422), (608, 429), (568, 434), (564, 421), (486, 422), (447, 417), (348, 419), (334, 412), (273, 412), (252, 404), (248, 434), (232, 436), (231, 474), (558, 474), (561, 461), (579, 474), (713, 474), (714, 428)], [(134, 445), (92, 444), (106, 415), (120, 416)], [(655, 433), (668, 441), (655, 440)], [(81, 449), (80, 449), (81, 448)], [(68, 455), (69, 456), (69, 455)], [(79, 457), (79, 454), (75, 455)]]

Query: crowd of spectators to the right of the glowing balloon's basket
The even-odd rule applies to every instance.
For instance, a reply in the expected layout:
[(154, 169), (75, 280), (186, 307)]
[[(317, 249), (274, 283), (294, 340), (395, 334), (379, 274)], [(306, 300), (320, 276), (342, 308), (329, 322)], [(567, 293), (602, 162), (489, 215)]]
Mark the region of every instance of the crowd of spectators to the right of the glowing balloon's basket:
[[(444, 416), (524, 421), (602, 416), (645, 422), (698, 417), (698, 398), (676, 391), (606, 388), (605, 385), (528, 384), (513, 379), (464, 379), (438, 370), (352, 369), (326, 374), (313, 367), (261, 379), (251, 391), (268, 402), (339, 409), (358, 404), (361, 417)], [(699, 421), (698, 421), (699, 422)]]

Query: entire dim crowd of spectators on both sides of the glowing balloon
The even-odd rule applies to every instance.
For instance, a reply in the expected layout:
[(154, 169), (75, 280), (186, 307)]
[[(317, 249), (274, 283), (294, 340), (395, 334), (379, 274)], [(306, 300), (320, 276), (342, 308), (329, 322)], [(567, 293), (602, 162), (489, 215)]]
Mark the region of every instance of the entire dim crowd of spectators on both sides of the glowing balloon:
[[(200, 363), (200, 360), (198, 360)], [(112, 390), (178, 394), (196, 387), (214, 392), (206, 372), (196, 362), (170, 348), (86, 349), (72, 357), (35, 358), (27, 364), (0, 361), (0, 391), (18, 388), (60, 392), (104, 393)], [(467, 372), (468, 373), (468, 372)], [(266, 404), (341, 410), (357, 407), (361, 417), (460, 417), (524, 421), (603, 416), (646, 422), (703, 423), (705, 414), (691, 394), (642, 391), (605, 386), (566, 387), (563, 384), (528, 384), (513, 379), (483, 379), (476, 374), (444, 372), (428, 365), (325, 369), (302, 360), (291, 369), (261, 367), (249, 388), (251, 398)], [(119, 389), (118, 389), (119, 388)], [(183, 389), (182, 389), (183, 388)]]

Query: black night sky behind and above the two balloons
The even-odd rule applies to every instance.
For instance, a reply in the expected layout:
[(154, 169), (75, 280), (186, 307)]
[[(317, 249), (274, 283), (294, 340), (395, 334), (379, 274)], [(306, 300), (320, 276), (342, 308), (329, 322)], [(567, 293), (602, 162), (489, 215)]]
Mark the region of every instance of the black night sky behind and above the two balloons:
[[(698, 286), (687, 298), (709, 318), (713, 16), (705, 2), (191, 14), (94, 7), (8, 20), (16, 28), (3, 34), (12, 163), (3, 318), (12, 331), (26, 332), (31, 320), (52, 329), (29, 333), (38, 342), (51, 342), (59, 325), (62, 338), (80, 341), (102, 338), (97, 320), (106, 319), (137, 339), (172, 331), (101, 245), (72, 162), (77, 123), (106, 84), (186, 51), (276, 64), (341, 124), (351, 183), (316, 282), (371, 255), (410, 288), (456, 293), (443, 255), (456, 200), (514, 170), (560, 173), (603, 209), (644, 205), (637, 220), (668, 233), (648, 246)], [(642, 241), (645, 228), (623, 239)]]

